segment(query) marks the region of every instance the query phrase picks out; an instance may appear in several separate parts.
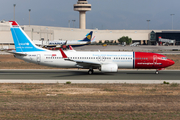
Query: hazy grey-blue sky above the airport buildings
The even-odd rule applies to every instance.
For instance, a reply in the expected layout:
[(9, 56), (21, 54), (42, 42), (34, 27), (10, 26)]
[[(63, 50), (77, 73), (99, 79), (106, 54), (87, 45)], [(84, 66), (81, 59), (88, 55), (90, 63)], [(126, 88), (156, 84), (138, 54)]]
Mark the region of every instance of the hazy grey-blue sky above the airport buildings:
[[(0, 20), (14, 19), (20, 25), (79, 27), (78, 0), (0, 0)], [(88, 0), (87, 29), (109, 30), (180, 30), (180, 0)], [(170, 14), (174, 14), (171, 16)], [(150, 20), (150, 22), (147, 22)], [(149, 27), (148, 27), (149, 23)]]

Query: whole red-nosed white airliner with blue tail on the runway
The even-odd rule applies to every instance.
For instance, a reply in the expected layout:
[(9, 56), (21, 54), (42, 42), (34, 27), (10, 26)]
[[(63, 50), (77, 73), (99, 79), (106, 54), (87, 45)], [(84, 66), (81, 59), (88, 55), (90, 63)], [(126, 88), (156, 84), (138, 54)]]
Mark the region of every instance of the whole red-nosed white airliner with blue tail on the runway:
[(117, 72), (118, 68), (156, 69), (159, 70), (174, 64), (166, 56), (146, 52), (78, 52), (75, 50), (50, 51), (36, 46), (15, 21), (10, 21), (10, 28), (16, 51), (16, 58), (27, 62), (61, 68), (94, 69), (102, 72)]

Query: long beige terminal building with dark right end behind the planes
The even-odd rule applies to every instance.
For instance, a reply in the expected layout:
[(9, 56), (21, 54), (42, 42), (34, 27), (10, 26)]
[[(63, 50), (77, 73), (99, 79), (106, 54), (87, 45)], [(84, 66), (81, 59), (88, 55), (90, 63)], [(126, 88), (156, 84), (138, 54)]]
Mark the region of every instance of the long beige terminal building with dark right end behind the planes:
[[(20, 25), (21, 26), (21, 25)], [(159, 37), (176, 40), (176, 45), (180, 45), (180, 30), (98, 30), (79, 29), (50, 26), (21, 26), (25, 33), (35, 42), (35, 44), (48, 44), (52, 40), (81, 40), (84, 36), (93, 31), (96, 42), (100, 40), (118, 40), (123, 36), (132, 38), (132, 42), (139, 42), (140, 45), (157, 45)], [(14, 49), (9, 22), (0, 23), (0, 49)]]

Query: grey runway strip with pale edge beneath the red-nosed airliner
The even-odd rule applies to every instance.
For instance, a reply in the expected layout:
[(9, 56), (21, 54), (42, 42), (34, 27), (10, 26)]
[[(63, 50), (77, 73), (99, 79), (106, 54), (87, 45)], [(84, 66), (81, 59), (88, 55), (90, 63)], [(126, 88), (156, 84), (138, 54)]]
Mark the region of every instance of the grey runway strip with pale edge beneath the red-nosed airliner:
[(87, 70), (0, 70), (0, 83), (180, 83), (180, 71), (119, 70), (117, 73)]

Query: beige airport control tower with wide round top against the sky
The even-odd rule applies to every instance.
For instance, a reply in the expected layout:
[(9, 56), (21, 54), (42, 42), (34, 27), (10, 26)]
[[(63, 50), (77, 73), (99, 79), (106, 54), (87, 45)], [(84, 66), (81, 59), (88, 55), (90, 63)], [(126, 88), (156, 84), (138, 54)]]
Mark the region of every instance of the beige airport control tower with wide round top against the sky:
[(87, 0), (78, 0), (77, 4), (74, 4), (74, 10), (79, 11), (79, 28), (86, 29), (86, 11), (91, 10), (91, 4), (88, 4)]

